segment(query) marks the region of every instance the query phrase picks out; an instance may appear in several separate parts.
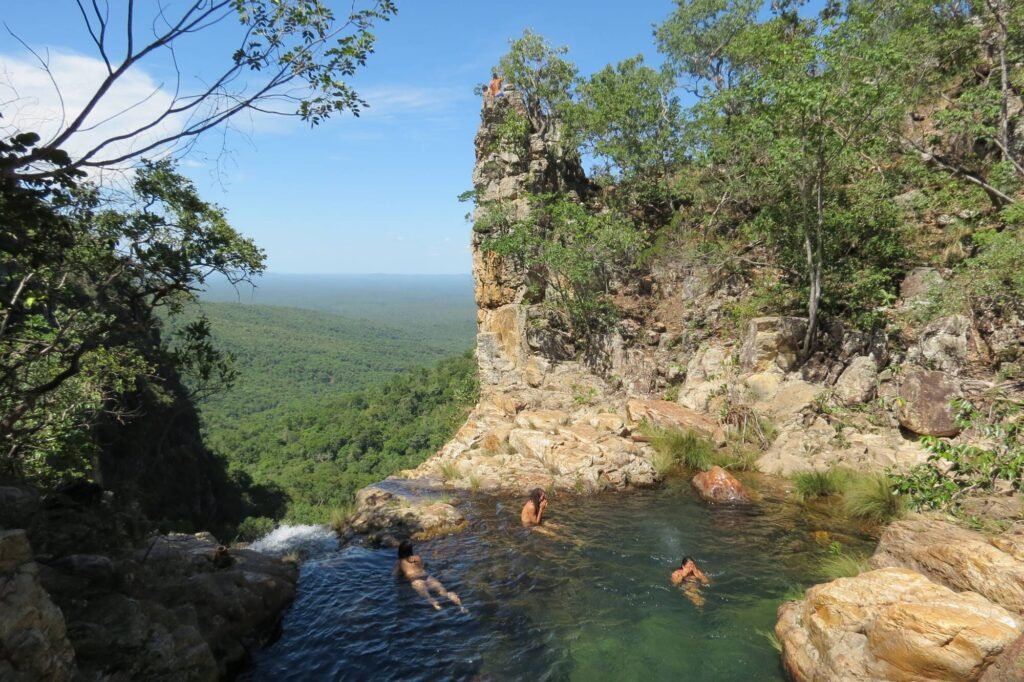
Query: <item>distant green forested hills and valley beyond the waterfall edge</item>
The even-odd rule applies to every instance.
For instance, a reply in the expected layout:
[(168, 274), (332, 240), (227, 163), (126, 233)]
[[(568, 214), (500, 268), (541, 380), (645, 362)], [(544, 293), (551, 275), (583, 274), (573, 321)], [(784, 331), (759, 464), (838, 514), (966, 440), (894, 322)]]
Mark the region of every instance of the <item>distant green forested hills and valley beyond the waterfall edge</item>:
[(285, 501), (250, 513), (327, 520), (443, 443), (476, 400), (475, 310), (468, 275), (267, 275), (205, 293), (176, 325), (205, 314), (239, 372), (200, 403), (206, 442)]

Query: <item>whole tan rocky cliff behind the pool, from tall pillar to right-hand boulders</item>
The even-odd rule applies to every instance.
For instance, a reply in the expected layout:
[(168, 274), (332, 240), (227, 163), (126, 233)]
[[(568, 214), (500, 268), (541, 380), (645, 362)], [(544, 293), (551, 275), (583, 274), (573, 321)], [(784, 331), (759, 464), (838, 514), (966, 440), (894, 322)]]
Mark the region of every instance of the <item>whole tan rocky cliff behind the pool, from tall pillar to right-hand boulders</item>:
[[(459, 527), (457, 510), (423, 496), (441, 484), (514, 493), (649, 485), (658, 474), (653, 451), (638, 434), (642, 423), (696, 431), (719, 446), (749, 438), (753, 428), (757, 466), (768, 473), (924, 461), (899, 425), (942, 432), (947, 398), (962, 384), (954, 374), (894, 367), (909, 357), (959, 367), (971, 353), (970, 333), (955, 323), (898, 355), (884, 335), (835, 325), (824, 350), (799, 361), (806, 321), (758, 317), (737, 335), (726, 308), (745, 285), (666, 256), (614, 283), (623, 318), (584, 352), (550, 313), (531, 273), (485, 248), (495, 235), (481, 206), (497, 202), (523, 215), (529, 194), (558, 189), (586, 201), (595, 193), (579, 161), (560, 148), (557, 126), (531, 131), (519, 152), (502, 144), (502, 123), (517, 106), (514, 95), (485, 99), (475, 138), (479, 404), (434, 457), (358, 496), (357, 530), (397, 526), (422, 536)], [(848, 409), (864, 404), (872, 409)], [(432, 511), (420, 514), (425, 501)]]

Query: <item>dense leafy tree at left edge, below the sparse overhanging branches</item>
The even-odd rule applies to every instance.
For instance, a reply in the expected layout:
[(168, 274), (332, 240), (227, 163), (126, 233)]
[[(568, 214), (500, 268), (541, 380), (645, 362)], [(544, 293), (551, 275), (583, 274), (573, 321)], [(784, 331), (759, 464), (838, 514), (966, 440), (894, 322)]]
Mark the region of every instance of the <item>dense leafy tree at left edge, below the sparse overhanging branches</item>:
[[(6, 145), (0, 159), (31, 154)], [(46, 482), (88, 470), (85, 429), (129, 416), (121, 396), (171, 359), (156, 311), (180, 310), (212, 273), (247, 280), (263, 254), (169, 161), (143, 163), (117, 208), (89, 184), (11, 176), (0, 205), (0, 471)], [(175, 358), (229, 380), (208, 334), (186, 330)]]

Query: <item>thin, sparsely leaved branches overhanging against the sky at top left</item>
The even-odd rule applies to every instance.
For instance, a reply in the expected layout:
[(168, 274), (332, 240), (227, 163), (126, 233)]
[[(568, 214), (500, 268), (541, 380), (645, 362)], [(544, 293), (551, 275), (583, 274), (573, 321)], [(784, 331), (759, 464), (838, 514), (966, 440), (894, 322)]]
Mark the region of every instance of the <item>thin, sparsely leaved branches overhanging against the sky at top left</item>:
[[(323, 0), (190, 0), (174, 7), (128, 0), (120, 13), (117, 8), (112, 13), (109, 3), (74, 4), (106, 76), (81, 111), (65, 113), (52, 139), (28, 154), (6, 155), (2, 174), (52, 177), (69, 168), (110, 168), (167, 150), (183, 152), (199, 135), (243, 112), (298, 116), (311, 124), (342, 111), (358, 115), (366, 102), (345, 79), (373, 52), (374, 24), (396, 12), (391, 0), (365, 8), (353, 4), (341, 16)], [(233, 27), (218, 34), (220, 40), (230, 36), (224, 62), (209, 65), (212, 73), (195, 89), (178, 72), (172, 95), (151, 120), (88, 142), (75, 159), (54, 158), (101, 123), (97, 112), (119, 82), (158, 58), (169, 56), (176, 68), (177, 52), (188, 49), (193, 36), (218, 26)], [(46, 60), (38, 60), (48, 72)], [(24, 132), (31, 131), (12, 131)]]

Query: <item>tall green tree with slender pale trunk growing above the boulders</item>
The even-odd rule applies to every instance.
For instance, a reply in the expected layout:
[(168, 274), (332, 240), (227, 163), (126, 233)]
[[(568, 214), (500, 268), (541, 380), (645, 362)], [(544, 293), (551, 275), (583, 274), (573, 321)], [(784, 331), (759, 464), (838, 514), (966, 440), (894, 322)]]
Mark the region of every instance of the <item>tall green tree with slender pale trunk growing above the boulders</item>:
[[(891, 268), (899, 256), (899, 222), (879, 203), (887, 187), (872, 173), (887, 148), (884, 131), (903, 113), (892, 82), (894, 59), (873, 46), (873, 16), (780, 13), (751, 24), (746, 5), (733, 11), (738, 15), (716, 20), (738, 27), (728, 32), (729, 45), (744, 55), (743, 69), (730, 70), (729, 87), (709, 90), (697, 104), (691, 144), (694, 157), (713, 169), (709, 179), (719, 184), (722, 201), (748, 207), (746, 228), (799, 273), (807, 296), (807, 354), (829, 280), (863, 278), (863, 266), (873, 263), (882, 270), (870, 275), (877, 279), (870, 289), (884, 294), (892, 287), (894, 272), (885, 265)], [(712, 56), (672, 58), (707, 65)], [(885, 302), (873, 299), (860, 303)]]

